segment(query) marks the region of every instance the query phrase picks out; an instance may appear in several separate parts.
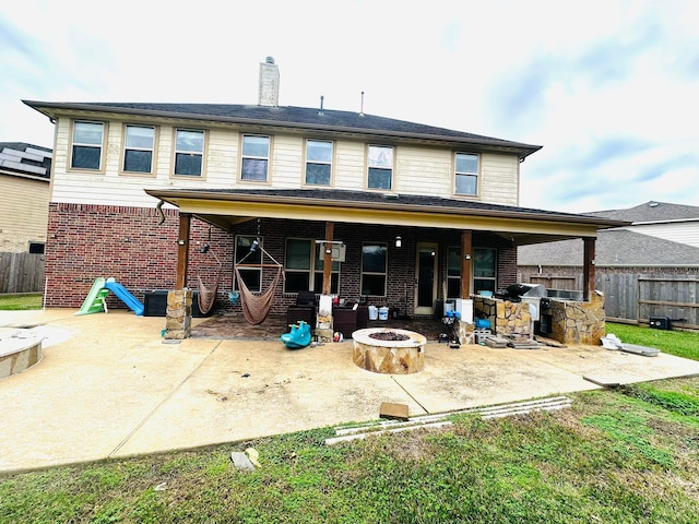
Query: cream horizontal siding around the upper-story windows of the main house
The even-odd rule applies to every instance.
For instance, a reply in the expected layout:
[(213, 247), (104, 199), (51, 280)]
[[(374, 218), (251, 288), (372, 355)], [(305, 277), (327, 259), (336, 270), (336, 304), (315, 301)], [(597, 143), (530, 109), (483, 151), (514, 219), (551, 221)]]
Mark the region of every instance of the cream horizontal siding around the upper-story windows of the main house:
[[(55, 202), (153, 206), (154, 199), (144, 188), (280, 188), (304, 187), (305, 136), (274, 135), (270, 181), (268, 183), (239, 180), (240, 133), (236, 129), (214, 127), (206, 130), (205, 175), (173, 177), (173, 140), (175, 127), (161, 124), (155, 174), (132, 176), (119, 172), (122, 148), (122, 123), (108, 126), (105, 148), (105, 172), (71, 171), (70, 119), (57, 124), (56, 152), (51, 199)], [(147, 122), (145, 122), (147, 123)], [(188, 124), (189, 129), (197, 126)], [(481, 200), (489, 203), (517, 205), (519, 200), (519, 163), (516, 156), (481, 155)], [(366, 188), (366, 143), (354, 140), (334, 142), (333, 188), (362, 191)], [(453, 151), (438, 147), (398, 145), (393, 190), (406, 194), (453, 196)]]

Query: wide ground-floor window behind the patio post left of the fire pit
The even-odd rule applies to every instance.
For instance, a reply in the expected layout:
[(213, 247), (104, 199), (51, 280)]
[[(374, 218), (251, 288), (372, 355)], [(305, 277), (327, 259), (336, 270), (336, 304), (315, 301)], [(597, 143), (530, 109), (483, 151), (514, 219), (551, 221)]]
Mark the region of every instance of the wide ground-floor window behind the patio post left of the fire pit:
[[(306, 238), (286, 239), (284, 264), (284, 293), (316, 291), (323, 289), (324, 253), (322, 245)], [(340, 262), (332, 263), (330, 293), (339, 294)]]

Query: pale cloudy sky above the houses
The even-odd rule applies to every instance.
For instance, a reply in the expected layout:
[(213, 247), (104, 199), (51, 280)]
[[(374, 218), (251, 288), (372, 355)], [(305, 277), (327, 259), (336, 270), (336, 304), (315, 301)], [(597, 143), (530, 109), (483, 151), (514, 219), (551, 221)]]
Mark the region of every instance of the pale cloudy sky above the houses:
[(282, 106), (542, 145), (521, 206), (699, 205), (697, 20), (694, 0), (0, 0), (0, 141), (52, 147), (23, 99), (257, 104), (273, 57)]

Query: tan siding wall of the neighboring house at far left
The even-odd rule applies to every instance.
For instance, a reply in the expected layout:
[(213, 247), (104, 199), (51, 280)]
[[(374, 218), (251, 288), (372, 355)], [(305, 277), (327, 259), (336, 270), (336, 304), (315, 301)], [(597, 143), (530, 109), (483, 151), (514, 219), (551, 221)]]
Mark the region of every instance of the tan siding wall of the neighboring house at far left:
[(0, 175), (0, 252), (25, 252), (46, 241), (48, 180)]

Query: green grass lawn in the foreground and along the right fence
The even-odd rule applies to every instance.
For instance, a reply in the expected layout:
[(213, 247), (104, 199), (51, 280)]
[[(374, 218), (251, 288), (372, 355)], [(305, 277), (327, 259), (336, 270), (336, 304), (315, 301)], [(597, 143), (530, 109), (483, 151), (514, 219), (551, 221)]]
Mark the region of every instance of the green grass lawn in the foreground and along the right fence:
[[(625, 329), (667, 353), (699, 346)], [(324, 428), (0, 476), (0, 522), (696, 523), (699, 377), (570, 396), (569, 409), (335, 446)], [(261, 467), (238, 472), (229, 454), (248, 446)]]

